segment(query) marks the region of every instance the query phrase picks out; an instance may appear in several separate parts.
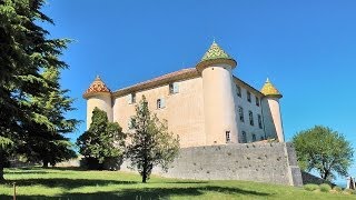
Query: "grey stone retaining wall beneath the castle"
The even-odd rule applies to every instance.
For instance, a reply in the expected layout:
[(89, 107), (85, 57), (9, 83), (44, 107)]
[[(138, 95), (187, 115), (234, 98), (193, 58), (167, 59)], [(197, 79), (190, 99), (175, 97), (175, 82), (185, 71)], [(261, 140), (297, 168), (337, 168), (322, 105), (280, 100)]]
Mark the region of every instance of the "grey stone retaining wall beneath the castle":
[[(129, 170), (123, 162), (121, 170)], [(199, 180), (249, 180), (303, 186), (290, 143), (246, 143), (182, 148), (168, 172), (170, 178)]]

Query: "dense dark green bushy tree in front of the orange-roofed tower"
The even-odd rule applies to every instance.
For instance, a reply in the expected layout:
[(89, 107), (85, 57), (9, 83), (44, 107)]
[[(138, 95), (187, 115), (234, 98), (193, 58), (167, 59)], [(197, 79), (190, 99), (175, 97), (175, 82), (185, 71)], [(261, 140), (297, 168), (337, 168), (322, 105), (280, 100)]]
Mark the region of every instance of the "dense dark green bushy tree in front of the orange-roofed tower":
[[(107, 159), (119, 158), (125, 152), (126, 134), (117, 122), (109, 122), (107, 112), (92, 111), (89, 130), (77, 140), (79, 152), (87, 161), (103, 163)], [(90, 166), (89, 166), (90, 167)]]

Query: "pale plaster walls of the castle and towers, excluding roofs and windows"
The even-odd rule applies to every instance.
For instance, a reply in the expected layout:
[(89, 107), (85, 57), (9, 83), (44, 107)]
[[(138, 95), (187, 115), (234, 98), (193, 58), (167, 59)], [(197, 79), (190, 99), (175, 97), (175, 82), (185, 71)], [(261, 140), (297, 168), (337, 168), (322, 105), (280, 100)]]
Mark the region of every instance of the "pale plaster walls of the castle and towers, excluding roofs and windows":
[[(137, 91), (136, 103), (129, 103), (129, 93), (118, 97), (98, 93), (90, 97), (87, 102), (87, 129), (92, 110), (98, 107), (108, 113), (109, 121), (118, 122), (123, 132), (132, 131), (129, 122), (136, 114), (135, 107), (146, 96), (149, 110), (168, 121), (169, 131), (179, 134), (182, 148), (224, 144), (226, 131), (230, 131), (234, 143), (243, 141), (243, 131), (246, 132), (246, 142), (253, 142), (254, 134), (256, 141), (275, 137), (284, 141), (278, 99), (263, 98), (256, 90), (240, 84), (231, 76), (228, 66), (215, 67), (214, 70), (207, 68), (202, 76), (205, 78), (178, 81), (178, 93), (171, 94), (168, 83)], [(237, 96), (236, 86), (241, 88), (241, 97)], [(247, 91), (251, 93), (251, 102), (247, 101)], [(256, 97), (259, 106), (256, 104)], [(157, 108), (158, 99), (164, 99), (165, 108)], [(244, 122), (239, 119), (238, 107), (244, 109)], [(254, 126), (249, 123), (249, 111), (254, 116)], [(258, 114), (263, 117), (263, 128), (259, 128)]]

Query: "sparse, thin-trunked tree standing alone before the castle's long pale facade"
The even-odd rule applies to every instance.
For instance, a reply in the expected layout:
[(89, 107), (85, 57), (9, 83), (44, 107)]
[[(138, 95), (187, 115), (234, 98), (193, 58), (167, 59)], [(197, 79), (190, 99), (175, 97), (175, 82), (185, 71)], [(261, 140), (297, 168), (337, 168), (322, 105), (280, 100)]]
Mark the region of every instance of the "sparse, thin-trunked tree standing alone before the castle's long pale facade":
[(155, 166), (168, 170), (168, 164), (178, 153), (179, 138), (168, 132), (167, 121), (161, 122), (150, 113), (145, 96), (136, 106), (131, 127), (134, 132), (130, 134), (127, 157), (131, 160), (131, 168), (136, 168), (142, 182), (146, 182)]

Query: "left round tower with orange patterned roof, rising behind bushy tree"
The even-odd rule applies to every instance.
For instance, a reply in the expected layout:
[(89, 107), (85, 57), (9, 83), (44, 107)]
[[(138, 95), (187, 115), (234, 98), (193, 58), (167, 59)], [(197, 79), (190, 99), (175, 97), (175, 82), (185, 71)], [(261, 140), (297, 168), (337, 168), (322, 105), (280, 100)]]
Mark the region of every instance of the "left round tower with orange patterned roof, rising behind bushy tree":
[(108, 114), (108, 120), (112, 122), (111, 92), (98, 76), (82, 96), (87, 99), (87, 129), (91, 123), (92, 110), (103, 110)]

